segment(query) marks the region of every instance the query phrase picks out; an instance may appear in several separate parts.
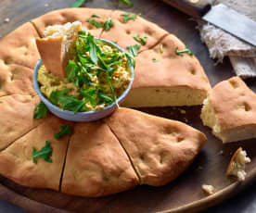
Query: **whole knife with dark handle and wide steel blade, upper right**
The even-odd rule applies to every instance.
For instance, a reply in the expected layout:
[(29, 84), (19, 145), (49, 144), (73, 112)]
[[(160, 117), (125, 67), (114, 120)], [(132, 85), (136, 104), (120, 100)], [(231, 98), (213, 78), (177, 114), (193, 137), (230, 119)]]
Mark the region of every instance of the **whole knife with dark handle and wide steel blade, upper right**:
[(163, 0), (187, 15), (203, 19), (256, 46), (256, 22), (237, 11), (219, 4), (211, 6), (208, 0)]

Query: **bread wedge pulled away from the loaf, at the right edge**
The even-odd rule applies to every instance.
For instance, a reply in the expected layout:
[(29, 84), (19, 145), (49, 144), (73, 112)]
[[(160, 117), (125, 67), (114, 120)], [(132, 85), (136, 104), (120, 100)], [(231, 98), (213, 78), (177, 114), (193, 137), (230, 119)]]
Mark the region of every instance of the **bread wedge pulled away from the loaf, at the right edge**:
[(239, 77), (215, 85), (201, 111), (205, 126), (223, 143), (256, 137), (256, 94)]

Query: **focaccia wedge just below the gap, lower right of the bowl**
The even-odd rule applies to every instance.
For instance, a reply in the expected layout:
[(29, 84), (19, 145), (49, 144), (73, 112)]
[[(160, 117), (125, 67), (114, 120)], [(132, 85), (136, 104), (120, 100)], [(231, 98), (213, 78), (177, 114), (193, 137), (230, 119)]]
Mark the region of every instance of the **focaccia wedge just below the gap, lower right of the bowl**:
[(182, 122), (128, 108), (116, 110), (105, 121), (129, 155), (140, 184), (161, 186), (173, 181), (206, 141), (202, 132)]

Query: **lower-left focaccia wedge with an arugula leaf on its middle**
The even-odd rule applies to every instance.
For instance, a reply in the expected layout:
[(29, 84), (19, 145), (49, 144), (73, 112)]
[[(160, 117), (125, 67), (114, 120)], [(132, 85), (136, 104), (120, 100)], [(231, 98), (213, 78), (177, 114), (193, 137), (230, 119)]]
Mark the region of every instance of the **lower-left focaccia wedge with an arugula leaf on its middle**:
[[(0, 153), (0, 174), (21, 185), (58, 190), (70, 136), (57, 140), (54, 134), (64, 124), (67, 121), (52, 116), (8, 146)], [(52, 147), (52, 162), (37, 158), (35, 164), (32, 147), (39, 151), (45, 146), (45, 141)]]

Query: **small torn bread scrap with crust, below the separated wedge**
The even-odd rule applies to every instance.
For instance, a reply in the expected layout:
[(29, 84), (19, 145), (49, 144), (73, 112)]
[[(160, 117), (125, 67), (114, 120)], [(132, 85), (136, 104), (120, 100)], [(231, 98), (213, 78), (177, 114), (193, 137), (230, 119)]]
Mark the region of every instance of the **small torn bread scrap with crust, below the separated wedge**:
[(226, 175), (236, 176), (238, 181), (244, 181), (246, 176), (245, 167), (247, 163), (250, 163), (250, 157), (247, 157), (246, 151), (242, 150), (241, 147), (238, 148), (230, 160)]

